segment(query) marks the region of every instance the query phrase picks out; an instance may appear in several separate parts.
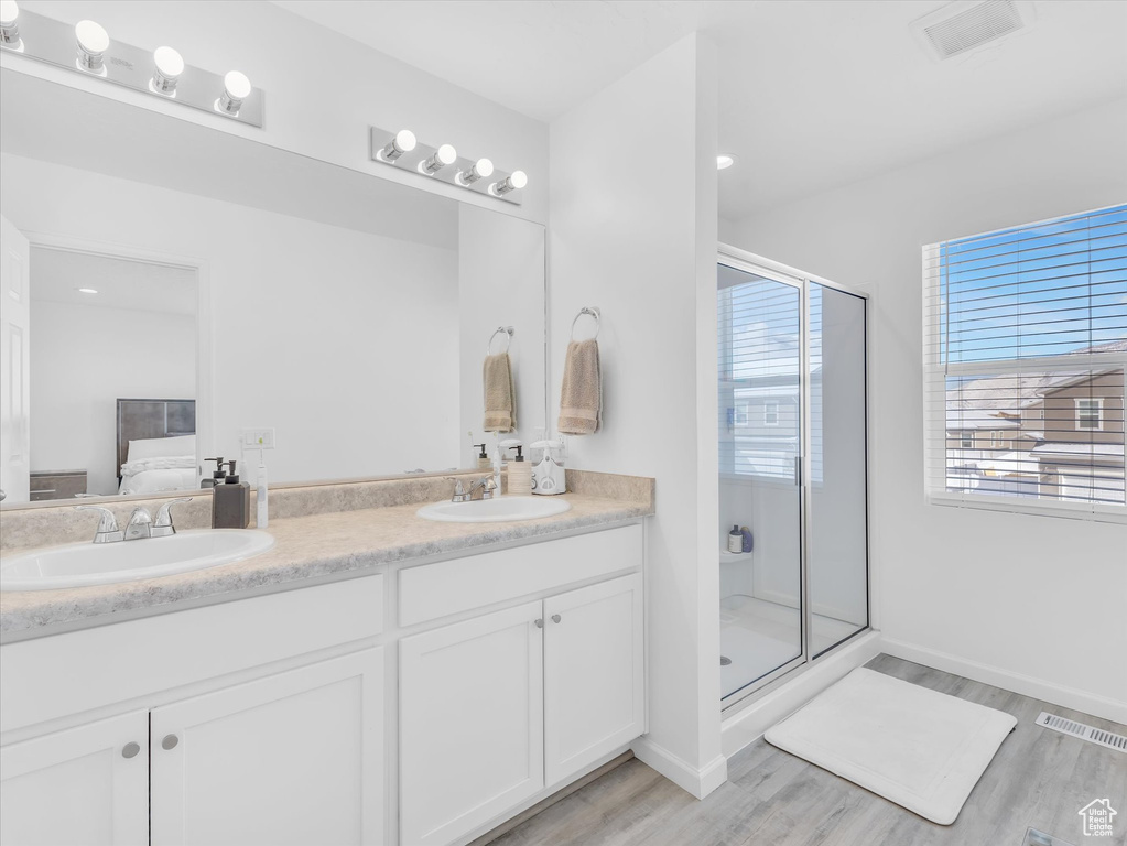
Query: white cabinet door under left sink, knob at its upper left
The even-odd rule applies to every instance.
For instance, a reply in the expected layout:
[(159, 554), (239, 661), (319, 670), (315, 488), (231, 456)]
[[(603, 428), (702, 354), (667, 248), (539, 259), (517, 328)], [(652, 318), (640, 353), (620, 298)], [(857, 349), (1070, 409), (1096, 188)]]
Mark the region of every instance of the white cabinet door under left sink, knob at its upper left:
[(152, 841), (383, 843), (383, 648), (152, 711)]

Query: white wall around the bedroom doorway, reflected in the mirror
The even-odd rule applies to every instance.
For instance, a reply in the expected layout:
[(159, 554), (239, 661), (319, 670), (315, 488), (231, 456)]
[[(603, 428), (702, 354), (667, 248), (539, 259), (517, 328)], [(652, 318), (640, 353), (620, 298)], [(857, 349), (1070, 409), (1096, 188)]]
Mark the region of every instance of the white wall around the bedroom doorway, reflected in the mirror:
[(272, 482), (459, 466), (453, 250), (8, 154), (0, 168), (17, 229), (203, 262), (201, 449), (238, 457), (240, 428), (274, 426)]

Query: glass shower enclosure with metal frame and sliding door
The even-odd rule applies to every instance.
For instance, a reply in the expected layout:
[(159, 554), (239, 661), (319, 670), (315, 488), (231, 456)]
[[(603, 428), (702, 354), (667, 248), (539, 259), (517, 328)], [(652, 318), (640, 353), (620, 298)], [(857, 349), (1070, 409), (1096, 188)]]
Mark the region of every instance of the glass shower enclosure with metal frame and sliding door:
[(866, 310), (824, 279), (721, 250), (724, 707), (869, 625)]

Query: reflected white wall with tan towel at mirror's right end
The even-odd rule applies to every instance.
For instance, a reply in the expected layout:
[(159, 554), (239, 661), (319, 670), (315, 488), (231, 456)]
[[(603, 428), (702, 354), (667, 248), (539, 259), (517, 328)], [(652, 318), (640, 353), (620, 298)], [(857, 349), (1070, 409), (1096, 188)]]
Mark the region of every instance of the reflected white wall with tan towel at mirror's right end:
[[(498, 327), (513, 327), (508, 354), (516, 393), (516, 431), (502, 438), (520, 438), (527, 445), (544, 427), (544, 230), (527, 221), (460, 206), (458, 268), (462, 466), (473, 466), (478, 451), (469, 444), (487, 444), (491, 457), (496, 443), (496, 435), (486, 435), (481, 428), (481, 367), (486, 345)], [(499, 351), (504, 347), (505, 338), (498, 336), (490, 348)]]

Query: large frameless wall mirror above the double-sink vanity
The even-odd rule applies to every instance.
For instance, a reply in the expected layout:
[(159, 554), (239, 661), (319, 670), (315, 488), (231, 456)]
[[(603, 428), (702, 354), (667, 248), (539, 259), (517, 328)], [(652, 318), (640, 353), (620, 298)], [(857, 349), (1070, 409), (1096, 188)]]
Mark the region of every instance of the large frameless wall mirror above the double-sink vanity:
[[(277, 484), (469, 469), (471, 444), (544, 426), (541, 225), (9, 70), (0, 87), (5, 508), (198, 488), (205, 458), (257, 465), (249, 431), (273, 430)], [(482, 366), (506, 348), (498, 436)]]

